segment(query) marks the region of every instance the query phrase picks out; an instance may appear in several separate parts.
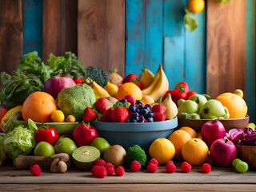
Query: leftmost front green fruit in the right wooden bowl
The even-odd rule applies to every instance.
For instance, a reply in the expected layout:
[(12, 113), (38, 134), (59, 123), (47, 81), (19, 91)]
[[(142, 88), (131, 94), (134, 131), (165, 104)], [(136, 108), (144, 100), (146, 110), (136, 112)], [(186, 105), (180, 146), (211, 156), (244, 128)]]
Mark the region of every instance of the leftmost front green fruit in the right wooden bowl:
[(181, 102), (179, 103), (180, 105), (178, 105), (178, 117), (179, 117), (179, 114), (182, 114), (182, 113), (198, 114), (198, 110), (199, 110), (198, 103), (191, 100), (184, 100), (184, 101), (180, 101), (180, 100), (182, 99), (178, 100), (178, 102)]

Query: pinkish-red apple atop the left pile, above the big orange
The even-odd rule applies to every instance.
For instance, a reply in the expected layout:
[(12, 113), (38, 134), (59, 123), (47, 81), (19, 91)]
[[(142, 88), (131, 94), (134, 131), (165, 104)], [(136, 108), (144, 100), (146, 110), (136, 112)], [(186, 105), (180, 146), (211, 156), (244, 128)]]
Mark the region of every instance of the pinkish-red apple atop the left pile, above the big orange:
[(68, 75), (63, 75), (62, 77), (53, 76), (49, 78), (45, 83), (46, 93), (56, 98), (58, 93), (65, 87), (75, 86), (73, 78)]

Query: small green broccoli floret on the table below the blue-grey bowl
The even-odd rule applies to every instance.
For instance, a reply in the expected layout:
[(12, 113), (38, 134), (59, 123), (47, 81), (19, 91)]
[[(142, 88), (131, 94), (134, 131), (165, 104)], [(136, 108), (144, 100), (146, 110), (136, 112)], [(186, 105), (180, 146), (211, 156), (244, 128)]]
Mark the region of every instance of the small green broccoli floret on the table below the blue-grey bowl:
[(126, 151), (126, 162), (129, 166), (134, 160), (137, 160), (142, 166), (145, 166), (146, 153), (138, 145), (130, 146)]

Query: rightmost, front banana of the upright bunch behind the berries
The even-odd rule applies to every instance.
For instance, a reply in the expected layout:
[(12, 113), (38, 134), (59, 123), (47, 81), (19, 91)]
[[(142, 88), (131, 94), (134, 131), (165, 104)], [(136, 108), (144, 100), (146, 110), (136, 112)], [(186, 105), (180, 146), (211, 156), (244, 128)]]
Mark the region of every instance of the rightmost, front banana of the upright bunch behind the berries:
[(169, 82), (165, 72), (162, 70), (162, 64), (159, 65), (158, 70), (160, 70), (158, 82), (155, 84), (154, 89), (150, 92), (150, 94), (147, 94), (153, 98), (154, 101), (166, 94), (166, 91), (169, 89)]

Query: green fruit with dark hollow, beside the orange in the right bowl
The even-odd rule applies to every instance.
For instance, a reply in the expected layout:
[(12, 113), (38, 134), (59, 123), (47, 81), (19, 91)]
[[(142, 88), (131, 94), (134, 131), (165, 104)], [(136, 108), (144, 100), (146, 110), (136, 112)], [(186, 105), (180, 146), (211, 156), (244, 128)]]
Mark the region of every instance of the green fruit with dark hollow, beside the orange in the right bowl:
[(204, 119), (217, 119), (217, 118), (229, 118), (229, 111), (225, 106), (222, 106), (222, 103), (215, 100), (210, 99), (199, 110), (199, 114)]

